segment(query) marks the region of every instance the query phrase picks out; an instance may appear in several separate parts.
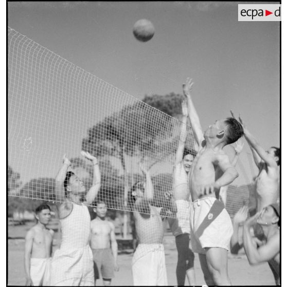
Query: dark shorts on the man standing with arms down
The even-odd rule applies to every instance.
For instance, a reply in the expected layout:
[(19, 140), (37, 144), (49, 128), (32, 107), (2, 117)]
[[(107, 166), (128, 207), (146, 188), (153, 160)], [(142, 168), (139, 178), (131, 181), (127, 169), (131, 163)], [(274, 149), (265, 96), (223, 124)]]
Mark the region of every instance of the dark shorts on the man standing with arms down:
[(94, 257), (95, 280), (114, 278), (114, 257), (110, 248), (92, 249)]

